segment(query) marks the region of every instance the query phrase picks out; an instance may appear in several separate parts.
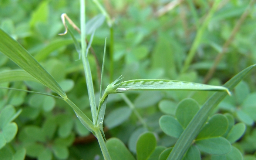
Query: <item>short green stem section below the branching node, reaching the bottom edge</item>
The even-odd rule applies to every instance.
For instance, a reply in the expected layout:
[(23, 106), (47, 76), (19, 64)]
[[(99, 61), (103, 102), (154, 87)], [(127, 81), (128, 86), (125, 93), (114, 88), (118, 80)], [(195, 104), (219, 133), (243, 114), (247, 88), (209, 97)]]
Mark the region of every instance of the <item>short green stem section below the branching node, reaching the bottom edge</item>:
[(103, 136), (101, 134), (101, 131), (98, 127), (95, 129), (95, 136), (97, 137), (98, 142), (100, 144), (101, 152), (103, 154), (104, 159), (105, 160), (111, 160), (110, 154), (108, 153), (108, 149), (107, 149), (107, 146), (106, 146), (105, 141), (104, 141), (104, 138), (103, 138)]

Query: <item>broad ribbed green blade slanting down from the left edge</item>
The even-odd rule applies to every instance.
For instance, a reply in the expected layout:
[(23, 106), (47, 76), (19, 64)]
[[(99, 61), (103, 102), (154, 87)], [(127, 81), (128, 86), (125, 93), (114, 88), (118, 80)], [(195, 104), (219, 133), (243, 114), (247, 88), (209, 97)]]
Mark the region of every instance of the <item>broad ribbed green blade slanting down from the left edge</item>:
[(17, 41), (0, 29), (0, 51), (13, 60), (18, 66), (36, 78), (43, 85), (66, 97), (66, 93), (41, 64)]

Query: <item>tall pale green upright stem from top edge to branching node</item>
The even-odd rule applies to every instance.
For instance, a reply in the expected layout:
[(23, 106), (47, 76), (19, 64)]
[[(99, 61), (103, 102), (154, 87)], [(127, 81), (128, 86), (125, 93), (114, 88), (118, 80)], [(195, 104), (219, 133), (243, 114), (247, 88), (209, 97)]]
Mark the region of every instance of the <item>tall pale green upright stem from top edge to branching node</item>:
[(92, 76), (91, 76), (91, 68), (88, 61), (88, 58), (85, 57), (85, 50), (86, 50), (86, 42), (85, 42), (85, 0), (80, 0), (80, 23), (81, 23), (81, 56), (82, 56), (82, 63), (84, 65), (84, 73), (85, 79), (88, 89), (88, 95), (90, 100), (91, 106), (91, 113), (92, 113), (92, 121), (95, 123), (95, 119), (97, 116), (96, 113), (96, 103), (95, 103), (95, 95), (94, 95), (94, 88), (92, 83)]

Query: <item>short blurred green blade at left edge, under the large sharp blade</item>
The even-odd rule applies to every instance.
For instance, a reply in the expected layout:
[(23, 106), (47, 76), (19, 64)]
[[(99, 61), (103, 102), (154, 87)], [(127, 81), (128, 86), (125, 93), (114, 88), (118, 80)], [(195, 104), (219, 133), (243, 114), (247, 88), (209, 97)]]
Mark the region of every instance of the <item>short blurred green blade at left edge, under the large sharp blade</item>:
[(21, 69), (0, 72), (0, 83), (13, 81), (34, 81), (38, 82), (33, 76)]

